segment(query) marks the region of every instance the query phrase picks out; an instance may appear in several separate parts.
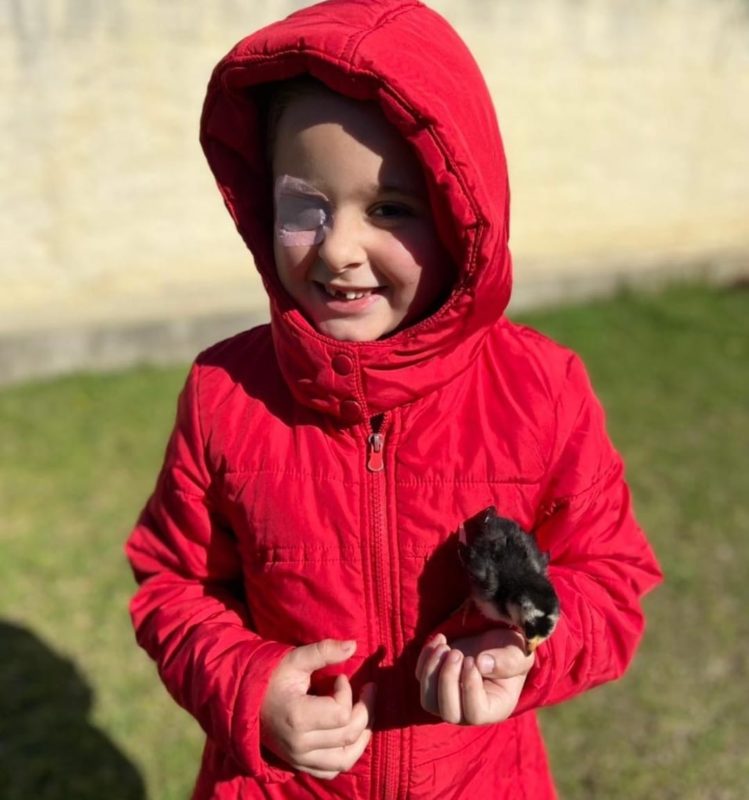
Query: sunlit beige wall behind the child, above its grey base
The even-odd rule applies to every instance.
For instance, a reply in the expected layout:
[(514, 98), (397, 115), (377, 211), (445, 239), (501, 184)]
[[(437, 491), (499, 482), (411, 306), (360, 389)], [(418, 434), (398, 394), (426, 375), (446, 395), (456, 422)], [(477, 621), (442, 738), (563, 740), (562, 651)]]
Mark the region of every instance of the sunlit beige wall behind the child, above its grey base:
[[(0, 0), (0, 332), (264, 305), (197, 143), (304, 2)], [(435, 0), (483, 67), (518, 282), (749, 254), (749, 2)]]

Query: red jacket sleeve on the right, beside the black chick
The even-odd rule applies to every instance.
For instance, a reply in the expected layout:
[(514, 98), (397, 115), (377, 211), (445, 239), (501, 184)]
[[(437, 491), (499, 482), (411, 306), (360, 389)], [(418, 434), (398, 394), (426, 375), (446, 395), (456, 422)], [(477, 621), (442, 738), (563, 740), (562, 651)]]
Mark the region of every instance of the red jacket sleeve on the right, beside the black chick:
[(566, 700), (620, 677), (645, 620), (641, 597), (662, 579), (631, 508), (621, 458), (576, 356), (556, 408), (556, 437), (536, 536), (549, 552), (561, 617), (536, 651), (515, 711)]

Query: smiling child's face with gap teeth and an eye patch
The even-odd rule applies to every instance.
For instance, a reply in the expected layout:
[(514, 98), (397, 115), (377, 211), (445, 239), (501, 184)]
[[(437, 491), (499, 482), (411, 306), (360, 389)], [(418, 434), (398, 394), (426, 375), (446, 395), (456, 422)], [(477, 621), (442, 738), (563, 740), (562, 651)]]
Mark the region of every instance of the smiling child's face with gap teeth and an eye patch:
[(292, 100), (273, 173), (276, 269), (317, 330), (372, 341), (436, 310), (454, 270), (419, 163), (379, 109), (328, 92)]

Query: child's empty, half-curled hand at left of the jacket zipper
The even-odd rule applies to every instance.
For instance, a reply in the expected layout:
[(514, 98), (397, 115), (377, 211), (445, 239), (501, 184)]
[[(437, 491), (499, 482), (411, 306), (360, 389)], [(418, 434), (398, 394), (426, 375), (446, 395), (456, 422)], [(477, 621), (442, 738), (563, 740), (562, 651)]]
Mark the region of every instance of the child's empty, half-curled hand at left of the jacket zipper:
[(262, 742), (295, 769), (330, 780), (359, 760), (372, 736), (375, 686), (363, 687), (353, 703), (345, 675), (336, 678), (331, 697), (308, 695), (311, 675), (340, 664), (355, 642), (324, 639), (292, 650), (271, 676), (260, 710)]

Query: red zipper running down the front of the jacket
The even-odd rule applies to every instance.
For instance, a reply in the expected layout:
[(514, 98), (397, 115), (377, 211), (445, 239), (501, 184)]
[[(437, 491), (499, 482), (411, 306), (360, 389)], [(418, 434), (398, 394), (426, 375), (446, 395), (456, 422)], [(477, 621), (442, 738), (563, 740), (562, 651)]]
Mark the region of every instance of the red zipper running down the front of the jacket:
[[(391, 630), (391, 563), (387, 519), (387, 476), (385, 473), (385, 440), (389, 415), (382, 414), (370, 421), (371, 431), (367, 436), (367, 483), (369, 486), (371, 525), (371, 574), (374, 584), (375, 614), (380, 643), (387, 642), (391, 652), (395, 650), (395, 635)], [(373, 754), (372, 797), (397, 798), (399, 792), (400, 744), (396, 732), (383, 731), (379, 747)]]

